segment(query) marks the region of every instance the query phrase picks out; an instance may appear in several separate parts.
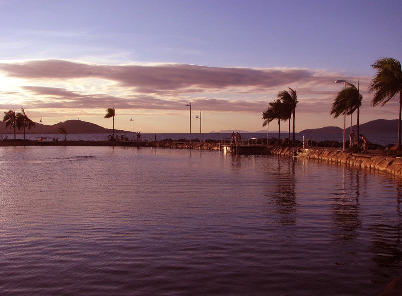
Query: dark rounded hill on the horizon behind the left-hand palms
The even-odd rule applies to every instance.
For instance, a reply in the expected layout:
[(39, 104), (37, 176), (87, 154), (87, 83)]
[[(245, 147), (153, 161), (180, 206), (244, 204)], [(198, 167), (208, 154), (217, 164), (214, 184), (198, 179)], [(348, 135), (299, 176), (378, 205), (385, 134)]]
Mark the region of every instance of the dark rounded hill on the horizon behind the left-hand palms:
[[(104, 128), (94, 123), (82, 121), (82, 120), (67, 120), (64, 122), (59, 122), (53, 125), (42, 125), (41, 123), (35, 122), (35, 127), (31, 128), (30, 130), (26, 129), (25, 132), (27, 134), (32, 133), (58, 133), (57, 129), (64, 125), (67, 130), (67, 133), (109, 133), (111, 134), (113, 129), (112, 128)], [(4, 122), (0, 122), (0, 131), (4, 132)], [(7, 129), (7, 133), (13, 133), (13, 129)], [(129, 133), (130, 131), (125, 131), (121, 129), (115, 129), (115, 133)], [(21, 134), (22, 131), (16, 130), (16, 133)]]

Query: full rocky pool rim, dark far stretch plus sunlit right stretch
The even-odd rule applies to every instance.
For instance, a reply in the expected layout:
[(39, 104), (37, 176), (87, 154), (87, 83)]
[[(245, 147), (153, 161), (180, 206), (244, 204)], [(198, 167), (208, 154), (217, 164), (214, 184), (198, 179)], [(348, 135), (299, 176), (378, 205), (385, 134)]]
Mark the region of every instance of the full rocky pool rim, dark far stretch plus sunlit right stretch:
[[(24, 140), (3, 140), (0, 147), (11, 146), (117, 146), (117, 147), (156, 147), (171, 149), (197, 149), (220, 151), (219, 142), (178, 142), (178, 141), (24, 141)], [(262, 153), (261, 153), (262, 151)], [(248, 153), (253, 154), (253, 153)], [(345, 164), (357, 168), (369, 168), (390, 173), (402, 177), (402, 158), (386, 156), (381, 151), (369, 151), (369, 153), (352, 153), (327, 147), (284, 147), (278, 145), (262, 146), (259, 153), (255, 154), (277, 154), (298, 158), (324, 160)]]

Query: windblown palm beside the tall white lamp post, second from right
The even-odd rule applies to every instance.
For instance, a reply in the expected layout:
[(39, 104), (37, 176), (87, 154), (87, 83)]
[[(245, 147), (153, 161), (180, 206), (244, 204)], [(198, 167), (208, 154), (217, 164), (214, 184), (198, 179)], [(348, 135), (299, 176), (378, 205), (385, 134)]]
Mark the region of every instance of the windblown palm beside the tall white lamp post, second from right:
[(332, 102), (332, 109), (330, 114), (334, 115), (334, 118), (338, 118), (345, 113), (351, 115), (357, 110), (357, 147), (360, 147), (360, 106), (363, 96), (360, 94), (359, 89), (352, 83), (346, 82), (347, 87), (340, 92)]

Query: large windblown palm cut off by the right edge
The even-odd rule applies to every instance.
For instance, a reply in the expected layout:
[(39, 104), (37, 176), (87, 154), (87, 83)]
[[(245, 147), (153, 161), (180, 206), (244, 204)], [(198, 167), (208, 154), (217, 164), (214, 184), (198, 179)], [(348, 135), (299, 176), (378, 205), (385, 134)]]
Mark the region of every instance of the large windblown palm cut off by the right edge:
[(402, 68), (394, 58), (378, 59), (371, 65), (377, 70), (368, 87), (368, 92), (374, 92), (371, 105), (385, 105), (399, 93), (399, 123), (398, 123), (398, 152), (401, 149), (401, 117), (402, 117)]

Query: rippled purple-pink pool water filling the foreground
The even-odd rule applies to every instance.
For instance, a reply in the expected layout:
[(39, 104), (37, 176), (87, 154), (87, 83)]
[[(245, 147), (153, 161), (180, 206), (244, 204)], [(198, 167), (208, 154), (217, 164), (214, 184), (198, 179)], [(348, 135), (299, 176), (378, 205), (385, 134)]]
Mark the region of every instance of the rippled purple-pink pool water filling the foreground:
[(374, 295), (402, 186), (278, 156), (0, 149), (2, 295)]

